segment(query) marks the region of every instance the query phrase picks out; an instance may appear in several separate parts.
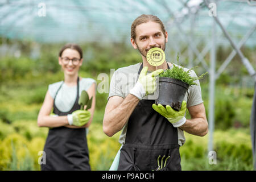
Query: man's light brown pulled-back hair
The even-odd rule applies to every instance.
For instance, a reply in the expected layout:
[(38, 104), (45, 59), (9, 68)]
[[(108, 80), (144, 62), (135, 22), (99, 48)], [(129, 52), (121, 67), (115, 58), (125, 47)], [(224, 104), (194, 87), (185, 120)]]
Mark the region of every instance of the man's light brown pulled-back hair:
[(147, 22), (155, 22), (155, 23), (159, 23), (160, 26), (161, 26), (161, 29), (162, 29), (162, 32), (164, 34), (164, 37), (166, 37), (166, 28), (164, 28), (164, 24), (163, 22), (158, 18), (158, 16), (155, 16), (155, 15), (141, 15), (141, 16), (138, 16), (134, 21), (133, 21), (133, 24), (131, 24), (131, 38), (133, 40), (136, 39), (136, 27), (139, 25), (139, 24), (142, 24), (142, 23), (147, 23)]

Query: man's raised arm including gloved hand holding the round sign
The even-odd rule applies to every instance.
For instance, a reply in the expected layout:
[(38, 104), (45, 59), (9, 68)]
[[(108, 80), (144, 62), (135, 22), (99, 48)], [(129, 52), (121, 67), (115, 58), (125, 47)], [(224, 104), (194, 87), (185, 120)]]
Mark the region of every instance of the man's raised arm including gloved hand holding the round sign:
[[(162, 73), (163, 69), (158, 69), (148, 75), (147, 69), (148, 67), (142, 69), (138, 81), (125, 99), (119, 96), (109, 98), (103, 119), (103, 131), (109, 137), (122, 130), (139, 100), (142, 100), (147, 94), (155, 92), (155, 76)], [(110, 85), (112, 84), (110, 83)]]

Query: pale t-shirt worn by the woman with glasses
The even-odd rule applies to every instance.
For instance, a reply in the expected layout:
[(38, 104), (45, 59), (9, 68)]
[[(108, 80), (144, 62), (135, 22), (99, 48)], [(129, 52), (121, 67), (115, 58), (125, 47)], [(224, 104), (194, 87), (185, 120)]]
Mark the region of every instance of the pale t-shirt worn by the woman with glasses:
[[(92, 78), (82, 78), (79, 81), (79, 96), (81, 95), (82, 90), (88, 90), (93, 83), (96, 83)], [(63, 81), (55, 82), (48, 86), (48, 91), (50, 96), (54, 99), (56, 96), (57, 89)], [(76, 101), (77, 95), (77, 86), (67, 86), (65, 83), (61, 86), (56, 98), (55, 105), (61, 112), (67, 112), (72, 109)]]

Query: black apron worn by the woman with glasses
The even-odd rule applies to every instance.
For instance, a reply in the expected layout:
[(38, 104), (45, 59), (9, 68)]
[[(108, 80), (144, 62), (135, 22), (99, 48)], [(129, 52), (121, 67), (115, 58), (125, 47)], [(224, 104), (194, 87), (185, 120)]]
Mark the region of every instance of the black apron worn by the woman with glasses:
[[(57, 90), (59, 92), (61, 86)], [(55, 98), (57, 96), (55, 95)], [(53, 104), (53, 113), (57, 115), (68, 115), (80, 109), (79, 101), (79, 77), (77, 78), (77, 96), (72, 109), (66, 113), (61, 112)], [(89, 152), (85, 129), (69, 129), (68, 127), (55, 127), (49, 129), (46, 144), (46, 164), (41, 164), (42, 171), (73, 171), (90, 170)]]

